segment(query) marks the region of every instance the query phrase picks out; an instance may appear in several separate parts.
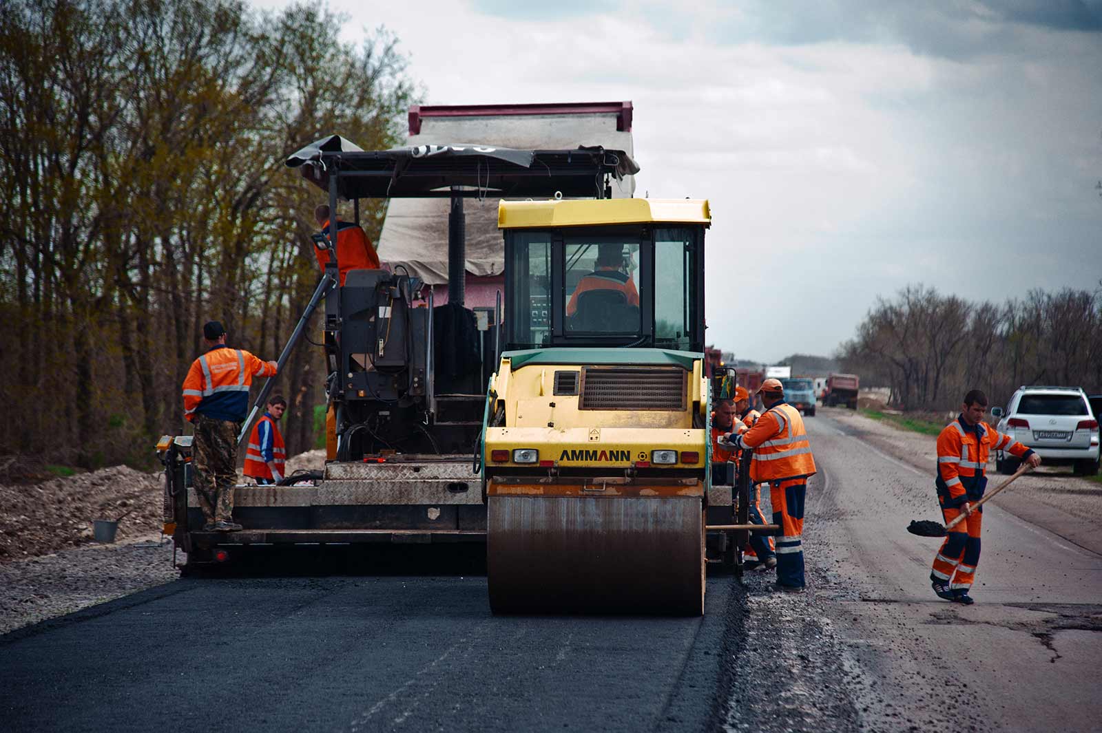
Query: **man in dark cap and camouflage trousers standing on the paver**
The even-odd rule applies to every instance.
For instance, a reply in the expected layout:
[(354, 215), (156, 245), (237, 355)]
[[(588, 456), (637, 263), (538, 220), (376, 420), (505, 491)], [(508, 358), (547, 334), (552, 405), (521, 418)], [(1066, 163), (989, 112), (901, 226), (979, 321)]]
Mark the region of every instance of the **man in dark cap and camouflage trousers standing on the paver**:
[(260, 361), (244, 349), (226, 346), (217, 320), (203, 327), (207, 352), (192, 362), (184, 379), (184, 417), (195, 429), (192, 484), (206, 519), (204, 532), (231, 532), (237, 482), (237, 434), (249, 408), (252, 376), (274, 376), (274, 361)]

